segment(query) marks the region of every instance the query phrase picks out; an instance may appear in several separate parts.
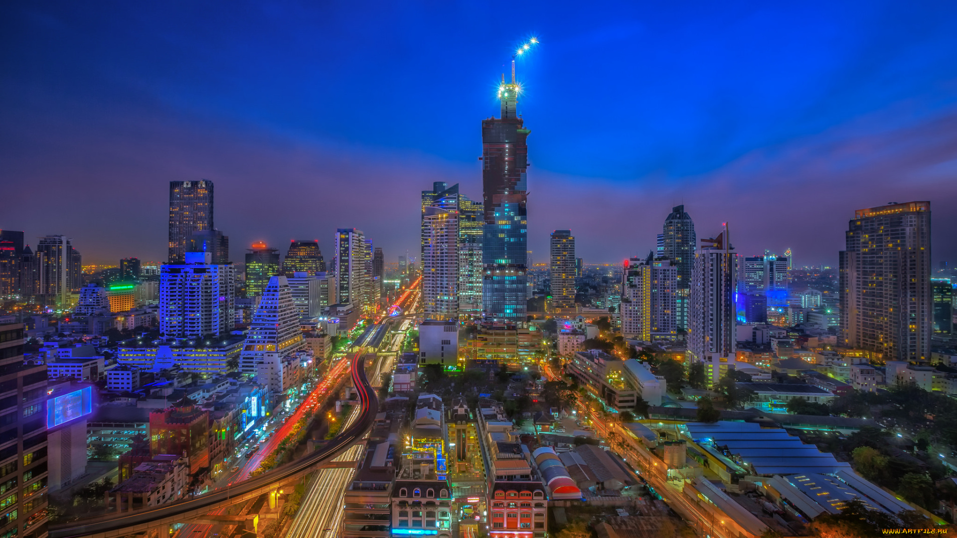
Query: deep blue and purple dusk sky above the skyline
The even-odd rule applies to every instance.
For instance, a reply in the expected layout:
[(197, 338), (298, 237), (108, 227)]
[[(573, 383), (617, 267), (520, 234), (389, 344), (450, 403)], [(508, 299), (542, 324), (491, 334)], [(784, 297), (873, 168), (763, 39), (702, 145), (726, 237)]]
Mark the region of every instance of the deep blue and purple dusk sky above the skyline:
[[(601, 3), (604, 4), (604, 3)], [(171, 180), (232, 256), (356, 227), (418, 250), (419, 191), (480, 199), (516, 46), (528, 234), (645, 255), (672, 205), (742, 254), (831, 264), (858, 208), (930, 200), (957, 261), (957, 3), (4, 2), (0, 228), (166, 258)]]

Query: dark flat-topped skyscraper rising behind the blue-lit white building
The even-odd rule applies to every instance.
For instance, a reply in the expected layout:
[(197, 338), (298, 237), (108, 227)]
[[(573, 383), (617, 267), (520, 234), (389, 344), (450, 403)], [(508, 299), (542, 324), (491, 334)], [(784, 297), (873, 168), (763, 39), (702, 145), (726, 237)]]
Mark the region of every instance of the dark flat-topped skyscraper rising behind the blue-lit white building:
[(183, 263), (189, 235), (212, 230), (212, 182), (169, 182), (169, 263)]

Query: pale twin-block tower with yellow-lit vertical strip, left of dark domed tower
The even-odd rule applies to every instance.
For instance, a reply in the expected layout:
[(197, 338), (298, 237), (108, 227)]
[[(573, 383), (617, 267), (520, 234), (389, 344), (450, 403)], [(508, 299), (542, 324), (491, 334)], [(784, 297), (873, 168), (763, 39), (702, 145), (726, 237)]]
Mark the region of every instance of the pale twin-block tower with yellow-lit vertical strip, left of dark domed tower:
[(678, 266), (674, 260), (631, 258), (621, 282), (621, 332), (644, 342), (678, 338)]

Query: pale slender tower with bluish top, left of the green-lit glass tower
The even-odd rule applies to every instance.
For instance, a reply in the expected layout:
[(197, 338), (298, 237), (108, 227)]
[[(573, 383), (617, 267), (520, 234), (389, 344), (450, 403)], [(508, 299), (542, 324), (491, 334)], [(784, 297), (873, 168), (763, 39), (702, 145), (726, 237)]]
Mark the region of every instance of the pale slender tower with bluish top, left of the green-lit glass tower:
[(434, 200), (422, 211), (422, 308), (429, 320), (458, 319), (456, 209), (452, 195)]

